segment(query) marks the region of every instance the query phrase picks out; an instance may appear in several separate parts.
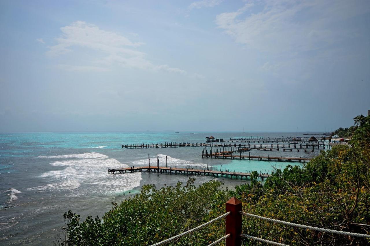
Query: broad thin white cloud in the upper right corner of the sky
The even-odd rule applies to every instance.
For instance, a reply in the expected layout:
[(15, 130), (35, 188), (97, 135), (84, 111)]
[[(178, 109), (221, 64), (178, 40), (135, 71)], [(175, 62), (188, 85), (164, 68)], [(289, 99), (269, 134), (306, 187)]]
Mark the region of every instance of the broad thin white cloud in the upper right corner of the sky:
[(346, 0), (266, 0), (255, 4), (253, 12), (247, 10), (254, 4), (247, 3), (235, 12), (219, 14), (216, 24), (236, 42), (274, 54), (325, 48), (350, 37), (351, 31), (338, 28), (338, 23), (369, 10), (368, 4), (363, 8)]

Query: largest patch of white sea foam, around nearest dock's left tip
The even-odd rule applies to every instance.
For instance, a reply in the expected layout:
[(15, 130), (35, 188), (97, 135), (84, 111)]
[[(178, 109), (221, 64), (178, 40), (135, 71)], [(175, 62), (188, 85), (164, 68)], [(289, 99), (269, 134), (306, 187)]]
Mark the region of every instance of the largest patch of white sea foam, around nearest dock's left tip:
[(67, 190), (68, 196), (80, 195), (114, 195), (118, 192), (129, 191), (140, 185), (141, 173), (108, 174), (110, 168), (124, 168), (128, 165), (109, 158), (100, 153), (91, 152), (62, 156), (40, 156), (41, 158), (59, 158), (50, 164), (55, 167), (65, 167), (62, 170), (48, 171), (41, 175), (50, 184), (29, 189)]

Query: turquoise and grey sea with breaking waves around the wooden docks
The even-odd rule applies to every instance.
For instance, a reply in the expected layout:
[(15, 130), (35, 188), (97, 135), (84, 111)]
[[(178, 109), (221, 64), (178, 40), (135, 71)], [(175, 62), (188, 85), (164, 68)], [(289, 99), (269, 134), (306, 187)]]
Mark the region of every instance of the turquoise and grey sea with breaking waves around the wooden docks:
[[(298, 133), (303, 136), (303, 133)], [(144, 133), (0, 133), (0, 245), (53, 245), (61, 232), (63, 213), (72, 210), (84, 219), (102, 216), (111, 202), (120, 202), (144, 184), (157, 187), (186, 182), (187, 175), (147, 172), (108, 174), (107, 169), (167, 163), (169, 167), (194, 166), (249, 172), (271, 172), (300, 163), (201, 158), (202, 147), (122, 149), (122, 144), (192, 142), (205, 137), (282, 137), (296, 133), (144, 132)], [(307, 136), (305, 136), (307, 137)], [(318, 153), (316, 148), (315, 154)], [(248, 154), (245, 152), (244, 154)], [(251, 155), (310, 157), (312, 153), (250, 151)], [(222, 165), (222, 166), (221, 166)], [(243, 179), (194, 176), (196, 183), (217, 179), (232, 188)]]

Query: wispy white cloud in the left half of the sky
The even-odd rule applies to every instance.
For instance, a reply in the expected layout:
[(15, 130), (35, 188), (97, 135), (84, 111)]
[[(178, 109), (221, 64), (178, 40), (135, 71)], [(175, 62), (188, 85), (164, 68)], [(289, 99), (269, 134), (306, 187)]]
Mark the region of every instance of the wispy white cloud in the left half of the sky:
[[(89, 52), (92, 51), (91, 54), (93, 55), (100, 55), (95, 61), (98, 64), (186, 74), (184, 70), (179, 68), (152, 64), (145, 58), (144, 52), (134, 49), (144, 43), (132, 42), (118, 33), (101, 30), (96, 25), (76, 21), (71, 25), (60, 28), (60, 30), (62, 35), (56, 38), (58, 44), (49, 47), (47, 52), (51, 56), (63, 55), (77, 49), (87, 49)], [(107, 68), (96, 66), (62, 65), (61, 68), (68, 71), (107, 71)]]

